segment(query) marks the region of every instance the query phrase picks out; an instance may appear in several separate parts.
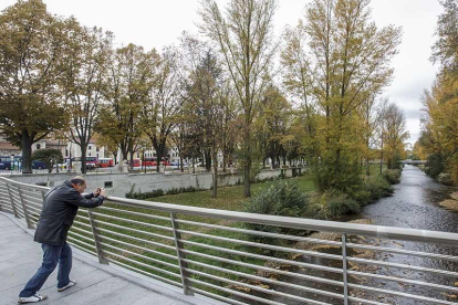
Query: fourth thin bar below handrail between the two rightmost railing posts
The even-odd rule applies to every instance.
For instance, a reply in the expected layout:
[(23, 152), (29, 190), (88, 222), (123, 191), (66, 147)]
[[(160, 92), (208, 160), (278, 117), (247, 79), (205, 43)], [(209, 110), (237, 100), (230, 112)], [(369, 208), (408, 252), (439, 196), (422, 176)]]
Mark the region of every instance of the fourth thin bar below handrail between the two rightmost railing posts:
[(185, 254), (191, 254), (191, 255), (206, 257), (206, 259), (209, 259), (209, 260), (215, 260), (215, 261), (222, 262), (222, 263), (229, 263), (229, 264), (233, 264), (233, 265), (251, 267), (251, 269), (254, 269), (254, 270), (263, 270), (263, 271), (267, 271), (267, 272), (270, 272), (270, 273), (278, 273), (278, 274), (281, 274), (281, 275), (285, 275), (285, 276), (302, 278), (302, 280), (305, 280), (305, 281), (314, 281), (314, 282), (320, 282), (320, 283), (341, 286), (341, 287), (343, 286), (343, 282), (339, 282), (339, 281), (334, 281), (334, 280), (327, 280), (327, 278), (324, 278), (324, 277), (316, 277), (316, 276), (311, 276), (311, 275), (306, 275), (306, 274), (302, 274), (302, 273), (294, 273), (294, 272), (289, 272), (289, 271), (283, 271), (283, 270), (279, 270), (279, 269), (272, 269), (272, 267), (267, 267), (267, 266), (261, 266), (261, 265), (256, 265), (256, 264), (248, 264), (248, 263), (233, 261), (233, 260), (219, 257), (219, 256), (212, 256), (212, 255), (208, 255), (208, 254), (205, 254), (205, 253), (195, 252), (195, 251), (190, 251), (190, 250), (186, 250), (186, 249), (181, 249), (180, 252), (183, 252)]

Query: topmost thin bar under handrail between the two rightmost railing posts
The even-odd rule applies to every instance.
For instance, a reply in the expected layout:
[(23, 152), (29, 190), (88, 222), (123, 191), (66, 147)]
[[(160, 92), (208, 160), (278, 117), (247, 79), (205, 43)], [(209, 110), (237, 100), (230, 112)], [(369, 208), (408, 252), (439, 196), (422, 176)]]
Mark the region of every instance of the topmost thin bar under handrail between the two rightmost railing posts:
[(231, 227), (225, 227), (225, 225), (218, 225), (218, 224), (211, 224), (211, 223), (196, 222), (196, 221), (189, 221), (189, 220), (183, 220), (183, 219), (177, 219), (176, 222), (184, 223), (184, 224), (199, 225), (199, 227), (205, 227), (205, 228), (211, 228), (211, 229), (220, 229), (220, 230), (225, 230), (225, 231), (229, 231), (229, 232), (236, 232), (236, 233), (244, 233), (244, 234), (251, 234), (251, 235), (258, 235), (258, 236), (264, 236), (264, 238), (272, 238), (272, 239), (283, 239), (283, 240), (290, 240), (290, 241), (303, 241), (303, 242), (318, 243), (318, 244), (332, 244), (332, 245), (339, 245), (339, 246), (342, 245), (342, 243), (337, 242), (337, 241), (310, 239), (310, 238), (303, 238), (303, 236), (293, 236), (293, 235), (287, 235), (287, 234), (278, 234), (278, 233), (270, 233), (270, 232), (231, 228)]

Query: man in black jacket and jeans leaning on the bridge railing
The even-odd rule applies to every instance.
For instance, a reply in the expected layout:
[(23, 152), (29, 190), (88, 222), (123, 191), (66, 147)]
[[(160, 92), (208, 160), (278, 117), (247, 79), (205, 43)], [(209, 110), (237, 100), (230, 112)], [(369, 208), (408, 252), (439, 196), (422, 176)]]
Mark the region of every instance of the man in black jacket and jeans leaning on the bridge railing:
[(105, 190), (100, 188), (83, 196), (85, 189), (86, 181), (77, 176), (45, 194), (34, 235), (34, 241), (41, 243), (43, 249), (43, 263), (19, 294), (18, 303), (37, 303), (45, 299), (46, 296), (40, 295), (38, 291), (58, 264), (58, 291), (63, 292), (76, 285), (76, 281), (69, 277), (72, 270), (72, 249), (66, 243), (69, 230), (79, 207), (96, 208), (106, 197)]

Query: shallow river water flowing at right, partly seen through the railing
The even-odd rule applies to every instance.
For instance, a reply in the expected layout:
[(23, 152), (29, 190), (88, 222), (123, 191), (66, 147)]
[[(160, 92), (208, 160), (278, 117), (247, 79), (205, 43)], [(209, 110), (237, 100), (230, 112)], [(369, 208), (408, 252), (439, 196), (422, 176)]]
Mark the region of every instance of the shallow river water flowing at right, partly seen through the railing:
[[(404, 168), (400, 183), (396, 185), (395, 192), (392, 197), (384, 198), (375, 203), (366, 206), (360, 214), (351, 218), (342, 219), (341, 221), (351, 221), (356, 219), (368, 219), (373, 224), (410, 228), (420, 230), (445, 231), (445, 232), (458, 232), (458, 212), (446, 210), (439, 206), (439, 202), (449, 198), (449, 193), (452, 191), (450, 188), (437, 183), (435, 180), (426, 176), (420, 169), (415, 166), (406, 166)], [(443, 244), (427, 244), (419, 242), (406, 242), (406, 241), (393, 241), (393, 240), (378, 240), (378, 239), (364, 239), (361, 236), (350, 236), (350, 241), (354, 243), (364, 243), (372, 245), (381, 245), (385, 248), (421, 251), (428, 253), (440, 253), (447, 255), (458, 256), (458, 245), (443, 245)], [(319, 250), (321, 252), (342, 254), (341, 249), (326, 249)], [(458, 263), (449, 262), (445, 260), (423, 259), (412, 255), (400, 255), (382, 252), (365, 253), (368, 256), (358, 256), (361, 252), (348, 251), (350, 256), (357, 256), (368, 260), (376, 260), (397, 264), (415, 265), (428, 269), (438, 269), (444, 271), (458, 272)], [(364, 253), (363, 253), (364, 255)], [(330, 261), (325, 259), (319, 259), (313, 256), (302, 255), (296, 257), (296, 261), (327, 265), (341, 269), (342, 262)], [(410, 271), (397, 267), (385, 267), (377, 265), (364, 265), (364, 264), (351, 264), (351, 270), (374, 273), (379, 275), (395, 276), (406, 280), (415, 280), (427, 283), (435, 283), (447, 286), (458, 286), (458, 277), (435, 274), (429, 272)], [(288, 269), (288, 267), (287, 267)], [(289, 267), (288, 271), (300, 273), (304, 275), (312, 275), (319, 277), (327, 277), (330, 280), (342, 281), (342, 275), (324, 273), (310, 269), (302, 267)], [(302, 285), (310, 288), (324, 290), (337, 294), (342, 294), (342, 288), (331, 285), (316, 284), (309, 281), (301, 281), (295, 277), (281, 276), (279, 281), (290, 284)], [(458, 304), (458, 293), (441, 291), (437, 288), (429, 288), (425, 286), (399, 284), (395, 281), (387, 280), (374, 280), (365, 276), (350, 276), (350, 283), (371, 286), (381, 290), (395, 291), (399, 293), (408, 293), (417, 296), (425, 296), (431, 298), (438, 298), (449, 304)], [(271, 286), (271, 288), (288, 294), (294, 294), (298, 296), (324, 302), (326, 304), (343, 304), (340, 298), (330, 298), (327, 296), (321, 296), (314, 293), (299, 293), (296, 290), (291, 290), (284, 286)], [(369, 299), (383, 304), (397, 304), (397, 305), (419, 305), (419, 304), (434, 304), (428, 302), (412, 301), (402, 296), (393, 296), (379, 292), (364, 292), (357, 290), (351, 290), (351, 295), (361, 297), (363, 299)], [(280, 304), (294, 304), (302, 305), (308, 304), (301, 301), (294, 301), (290, 297), (271, 297), (271, 301), (279, 302)], [(249, 302), (249, 304), (254, 304)], [(364, 303), (351, 303), (351, 304), (364, 304)]]

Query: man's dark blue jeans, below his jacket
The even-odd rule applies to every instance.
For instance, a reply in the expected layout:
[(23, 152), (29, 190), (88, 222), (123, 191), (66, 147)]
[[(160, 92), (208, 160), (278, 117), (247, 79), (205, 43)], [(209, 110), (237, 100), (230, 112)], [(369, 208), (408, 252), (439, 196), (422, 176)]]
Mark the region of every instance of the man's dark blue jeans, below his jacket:
[(72, 270), (72, 249), (65, 242), (64, 245), (41, 244), (43, 249), (43, 263), (37, 273), (29, 280), (24, 290), (19, 294), (20, 297), (34, 295), (46, 282), (48, 276), (58, 270), (58, 288), (64, 287), (70, 283), (70, 271)]

